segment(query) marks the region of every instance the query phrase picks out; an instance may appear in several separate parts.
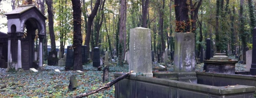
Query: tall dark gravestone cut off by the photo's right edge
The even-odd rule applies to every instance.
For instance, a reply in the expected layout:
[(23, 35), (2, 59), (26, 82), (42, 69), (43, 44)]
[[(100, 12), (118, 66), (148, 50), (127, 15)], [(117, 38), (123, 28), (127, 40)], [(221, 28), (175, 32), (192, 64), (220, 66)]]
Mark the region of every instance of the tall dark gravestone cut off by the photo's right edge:
[(252, 35), (252, 65), (250, 72), (251, 75), (256, 75), (256, 27), (253, 29)]

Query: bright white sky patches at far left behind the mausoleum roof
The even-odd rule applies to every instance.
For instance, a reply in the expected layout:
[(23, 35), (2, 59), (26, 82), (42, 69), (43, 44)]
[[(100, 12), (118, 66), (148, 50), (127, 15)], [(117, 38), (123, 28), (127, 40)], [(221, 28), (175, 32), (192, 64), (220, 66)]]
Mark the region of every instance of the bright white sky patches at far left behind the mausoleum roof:
[[(4, 1), (1, 1), (1, 5), (0, 5), (0, 11), (5, 11), (5, 12), (10, 12), (12, 11), (12, 7), (11, 7), (11, 0), (4, 0)], [(2, 27), (2, 23), (7, 23), (7, 18), (6, 16), (3, 18), (3, 17), (0, 17), (0, 31), (1, 32), (4, 32), (4, 33), (7, 33), (7, 26), (5, 27)]]

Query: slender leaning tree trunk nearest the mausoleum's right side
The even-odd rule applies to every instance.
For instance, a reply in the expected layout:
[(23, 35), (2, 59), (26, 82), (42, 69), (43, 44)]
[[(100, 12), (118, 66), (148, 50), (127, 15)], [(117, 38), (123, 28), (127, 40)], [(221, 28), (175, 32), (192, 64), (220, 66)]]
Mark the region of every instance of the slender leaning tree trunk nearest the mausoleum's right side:
[(55, 44), (55, 35), (53, 29), (53, 14), (52, 14), (52, 0), (45, 0), (47, 4), (47, 12), (48, 12), (48, 26), (49, 26), (49, 35), (51, 39), (51, 57), (53, 58), (52, 61), (48, 61), (48, 65), (58, 65), (58, 57), (56, 52), (56, 44)]

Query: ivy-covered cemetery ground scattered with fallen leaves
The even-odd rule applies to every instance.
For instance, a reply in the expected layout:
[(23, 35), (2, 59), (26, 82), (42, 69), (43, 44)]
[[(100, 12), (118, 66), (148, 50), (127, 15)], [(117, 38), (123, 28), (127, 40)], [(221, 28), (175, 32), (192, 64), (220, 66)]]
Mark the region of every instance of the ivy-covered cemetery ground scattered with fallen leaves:
[[(161, 65), (153, 63), (152, 68)], [(173, 65), (169, 62), (167, 71), (173, 71)], [(45, 66), (46, 71), (30, 72), (15, 71), (5, 72), (0, 70), (0, 98), (71, 98), (82, 93), (96, 90), (105, 86), (102, 82), (103, 71), (97, 71), (92, 67), (92, 63), (83, 65), (84, 72), (64, 71), (64, 67)], [(59, 69), (60, 72), (55, 72)], [(245, 65), (236, 64), (236, 71), (244, 71)], [(116, 63), (110, 63), (109, 80), (114, 80), (115, 72), (126, 73), (129, 71), (129, 65), (123, 67), (117, 66)], [(196, 65), (196, 71), (203, 71), (203, 63)], [(68, 90), (69, 79), (75, 75), (78, 87), (74, 91)], [(115, 88), (112, 86), (107, 90), (88, 96), (88, 98), (114, 98)]]

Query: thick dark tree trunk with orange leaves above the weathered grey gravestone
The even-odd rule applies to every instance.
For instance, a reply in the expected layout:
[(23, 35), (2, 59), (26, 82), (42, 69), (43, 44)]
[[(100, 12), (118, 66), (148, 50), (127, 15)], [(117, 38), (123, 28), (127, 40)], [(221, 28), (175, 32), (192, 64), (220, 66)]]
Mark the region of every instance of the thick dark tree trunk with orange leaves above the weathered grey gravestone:
[(174, 0), (176, 29), (175, 32), (190, 32), (187, 0)]

